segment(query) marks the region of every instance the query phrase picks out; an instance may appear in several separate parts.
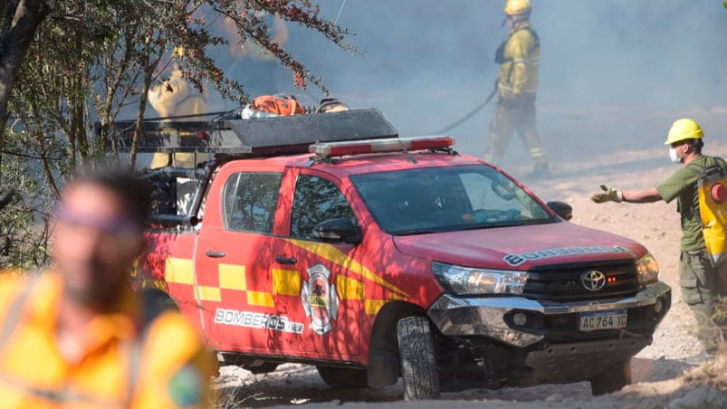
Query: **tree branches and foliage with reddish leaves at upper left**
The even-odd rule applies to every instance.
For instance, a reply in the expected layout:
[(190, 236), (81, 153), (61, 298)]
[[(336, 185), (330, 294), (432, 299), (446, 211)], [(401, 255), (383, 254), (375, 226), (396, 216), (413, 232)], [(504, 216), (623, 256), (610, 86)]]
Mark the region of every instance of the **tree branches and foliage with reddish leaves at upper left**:
[[(43, 257), (20, 260), (13, 254), (24, 253), (23, 245), (44, 249), (47, 229), (32, 228), (33, 221), (47, 219), (48, 205), (66, 177), (107, 150), (119, 160), (113, 122), (121, 109), (135, 108), (139, 130), (148, 90), (168, 80), (172, 62), (197, 90), (213, 87), (241, 104), (249, 99), (244, 85), (226, 78), (208, 56), (211, 47), (228, 42), (215, 34), (215, 26), (225, 19), (234, 23), (242, 39), (253, 39), (271, 52), (291, 71), (297, 86), (322, 87), (320, 78), (275, 43), (261, 11), (351, 49), (345, 43), (347, 31), (322, 17), (310, 0), (55, 2), (30, 43), (9, 100), (10, 128), (5, 128), (5, 143), (0, 145), (0, 185), (17, 185), (21, 199), (0, 215), (0, 232), (11, 243), (5, 246), (5, 256), (0, 255), (0, 267), (43, 262)], [(132, 151), (129, 165), (135, 157)], [(14, 233), (8, 234), (11, 224)], [(20, 237), (27, 234), (33, 240), (21, 245)]]

